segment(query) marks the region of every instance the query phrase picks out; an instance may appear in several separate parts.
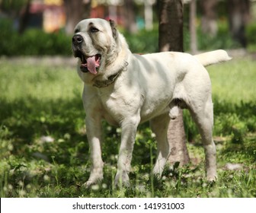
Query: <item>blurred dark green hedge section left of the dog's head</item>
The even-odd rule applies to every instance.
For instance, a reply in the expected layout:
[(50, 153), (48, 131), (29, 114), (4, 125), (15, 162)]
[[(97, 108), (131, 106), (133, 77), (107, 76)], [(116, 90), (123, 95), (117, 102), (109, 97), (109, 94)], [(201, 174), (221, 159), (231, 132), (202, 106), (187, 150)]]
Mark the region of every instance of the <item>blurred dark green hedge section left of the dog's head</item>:
[(71, 37), (62, 31), (45, 33), (39, 29), (19, 34), (6, 20), (0, 21), (0, 56), (71, 55)]

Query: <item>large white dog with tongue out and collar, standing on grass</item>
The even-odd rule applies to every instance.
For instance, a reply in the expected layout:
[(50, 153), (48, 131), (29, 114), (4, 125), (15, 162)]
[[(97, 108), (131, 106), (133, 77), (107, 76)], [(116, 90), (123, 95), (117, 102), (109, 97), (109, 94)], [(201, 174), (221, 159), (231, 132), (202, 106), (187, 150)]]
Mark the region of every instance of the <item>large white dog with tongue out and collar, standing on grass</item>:
[(101, 120), (120, 126), (121, 143), (116, 185), (129, 186), (136, 129), (150, 121), (158, 142), (153, 173), (162, 176), (170, 154), (167, 129), (178, 108), (187, 108), (199, 129), (206, 155), (206, 178), (215, 181), (216, 147), (213, 142), (213, 103), (205, 66), (231, 59), (219, 49), (191, 56), (183, 52), (133, 54), (114, 21), (80, 21), (72, 37), (78, 75), (84, 82), (82, 100), (91, 151), (91, 173), (85, 186), (103, 180)]

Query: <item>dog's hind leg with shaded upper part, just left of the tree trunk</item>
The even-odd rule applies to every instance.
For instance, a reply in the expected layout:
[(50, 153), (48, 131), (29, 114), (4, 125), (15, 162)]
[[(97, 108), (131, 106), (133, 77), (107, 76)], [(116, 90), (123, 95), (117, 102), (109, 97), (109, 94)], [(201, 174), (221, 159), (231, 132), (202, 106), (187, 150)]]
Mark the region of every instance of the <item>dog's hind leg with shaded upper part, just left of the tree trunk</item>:
[(162, 176), (165, 163), (170, 154), (170, 147), (167, 139), (169, 121), (170, 117), (168, 116), (168, 113), (165, 113), (161, 116), (155, 117), (154, 119), (150, 120), (152, 132), (155, 133), (155, 138), (156, 141), (158, 142), (158, 153), (155, 161), (155, 166), (153, 168), (153, 173), (159, 177)]

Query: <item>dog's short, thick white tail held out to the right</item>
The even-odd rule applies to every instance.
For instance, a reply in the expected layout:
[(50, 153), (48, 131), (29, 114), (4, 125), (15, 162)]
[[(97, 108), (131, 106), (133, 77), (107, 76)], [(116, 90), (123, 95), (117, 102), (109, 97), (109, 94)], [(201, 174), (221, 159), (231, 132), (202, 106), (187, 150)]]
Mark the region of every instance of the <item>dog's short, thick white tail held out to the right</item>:
[(226, 62), (232, 59), (225, 50), (218, 49), (211, 52), (204, 52), (194, 56), (203, 66), (214, 65), (219, 62)]

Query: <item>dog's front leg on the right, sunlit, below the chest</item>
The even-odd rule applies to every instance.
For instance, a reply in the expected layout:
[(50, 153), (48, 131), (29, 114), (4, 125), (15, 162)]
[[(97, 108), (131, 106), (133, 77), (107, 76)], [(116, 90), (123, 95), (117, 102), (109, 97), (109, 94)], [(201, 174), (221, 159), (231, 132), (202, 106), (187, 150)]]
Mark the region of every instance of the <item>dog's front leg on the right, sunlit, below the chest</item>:
[(136, 130), (140, 117), (133, 116), (123, 120), (121, 124), (122, 135), (119, 157), (117, 161), (117, 175), (115, 184), (119, 186), (129, 186), (130, 164), (133, 157), (133, 145), (136, 138)]

